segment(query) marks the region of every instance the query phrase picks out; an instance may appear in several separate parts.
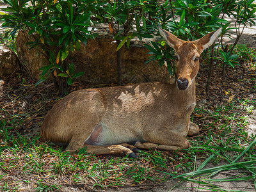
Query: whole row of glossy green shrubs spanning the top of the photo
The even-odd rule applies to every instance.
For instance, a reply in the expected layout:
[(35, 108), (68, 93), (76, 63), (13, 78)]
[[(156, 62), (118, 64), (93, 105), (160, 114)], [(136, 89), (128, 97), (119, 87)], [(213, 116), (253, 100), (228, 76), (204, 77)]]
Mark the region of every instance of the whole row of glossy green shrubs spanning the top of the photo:
[[(159, 26), (172, 31), (183, 40), (195, 40), (222, 27), (219, 44), (222, 49), (221, 57), (211, 49), (209, 63), (213, 63), (214, 58), (220, 60), (225, 76), (225, 68), (234, 67), (234, 47), (244, 28), (255, 24), (252, 19), (256, 17), (253, 0), (177, 0), (161, 3), (156, 0), (3, 1), (9, 5), (5, 10), (10, 12), (1, 19), (4, 21), (3, 27), (11, 28), (6, 35), (10, 34), (14, 38), (19, 29), (28, 29), (29, 35), (35, 36), (35, 41), (29, 42), (31, 49), (42, 47), (49, 60), (49, 65), (41, 69), (38, 83), (52, 76), (60, 93), (65, 92), (67, 86), (72, 84), (72, 79), (83, 75), (83, 72), (74, 73), (75, 65), (70, 60), (69, 53), (78, 50), (81, 42), (86, 44), (88, 39), (96, 36), (88, 30), (95, 23), (109, 24), (110, 33), (116, 40), (118, 84), (122, 84), (120, 49), (125, 44), (129, 47), (132, 38), (138, 37), (141, 40), (156, 35)], [(230, 22), (224, 19), (225, 15), (236, 19), (237, 38), (230, 47), (224, 45), (222, 39), (232, 29), (229, 27)], [(146, 47), (152, 54), (148, 61), (158, 60), (160, 66), (166, 61), (170, 74), (175, 74), (172, 48), (164, 41), (152, 42), (152, 45)], [(210, 81), (211, 76), (208, 78), (208, 82)]]

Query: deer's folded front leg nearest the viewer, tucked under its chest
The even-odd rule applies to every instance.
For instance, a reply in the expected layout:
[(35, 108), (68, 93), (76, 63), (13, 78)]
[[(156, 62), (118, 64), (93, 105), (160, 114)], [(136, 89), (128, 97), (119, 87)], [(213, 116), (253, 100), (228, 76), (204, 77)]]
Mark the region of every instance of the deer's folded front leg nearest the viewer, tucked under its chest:
[(189, 147), (186, 138), (172, 132), (170, 129), (163, 127), (154, 131), (143, 134), (145, 143), (136, 142), (137, 148), (158, 148), (159, 150), (181, 150)]

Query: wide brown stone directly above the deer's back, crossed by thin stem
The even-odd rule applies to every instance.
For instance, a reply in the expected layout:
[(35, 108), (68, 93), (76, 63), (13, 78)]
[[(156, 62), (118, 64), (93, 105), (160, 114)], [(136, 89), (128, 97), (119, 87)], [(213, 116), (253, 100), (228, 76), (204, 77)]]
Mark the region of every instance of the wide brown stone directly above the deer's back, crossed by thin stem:
[[(122, 47), (122, 79), (124, 83), (147, 81), (167, 81), (166, 67), (160, 68), (157, 62), (147, 61), (148, 49), (133, 44), (129, 49)], [(89, 40), (88, 45), (72, 54), (77, 71), (84, 71), (81, 81), (92, 83), (116, 83), (117, 61), (116, 44), (112, 38)]]

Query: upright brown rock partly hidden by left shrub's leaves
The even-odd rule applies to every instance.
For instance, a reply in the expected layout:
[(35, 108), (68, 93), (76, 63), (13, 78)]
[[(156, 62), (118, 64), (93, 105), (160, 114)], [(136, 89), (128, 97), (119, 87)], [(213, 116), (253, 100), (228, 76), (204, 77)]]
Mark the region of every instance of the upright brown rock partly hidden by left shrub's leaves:
[(16, 51), (22, 65), (26, 65), (29, 74), (34, 79), (40, 79), (40, 68), (49, 65), (45, 57), (45, 52), (40, 47), (29, 50), (28, 42), (35, 41), (33, 35), (28, 35), (28, 31), (19, 31), (16, 38)]

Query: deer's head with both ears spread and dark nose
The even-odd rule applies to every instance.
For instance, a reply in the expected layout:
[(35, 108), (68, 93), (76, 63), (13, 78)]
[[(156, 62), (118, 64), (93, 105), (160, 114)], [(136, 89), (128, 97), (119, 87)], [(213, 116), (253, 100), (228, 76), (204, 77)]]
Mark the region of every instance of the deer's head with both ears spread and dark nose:
[(159, 31), (170, 47), (175, 50), (177, 88), (186, 90), (198, 73), (200, 54), (212, 45), (220, 35), (221, 28), (191, 42), (180, 40), (164, 29), (159, 28)]

